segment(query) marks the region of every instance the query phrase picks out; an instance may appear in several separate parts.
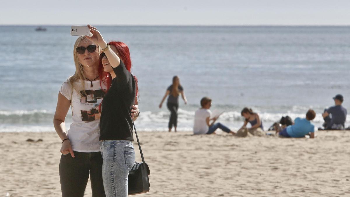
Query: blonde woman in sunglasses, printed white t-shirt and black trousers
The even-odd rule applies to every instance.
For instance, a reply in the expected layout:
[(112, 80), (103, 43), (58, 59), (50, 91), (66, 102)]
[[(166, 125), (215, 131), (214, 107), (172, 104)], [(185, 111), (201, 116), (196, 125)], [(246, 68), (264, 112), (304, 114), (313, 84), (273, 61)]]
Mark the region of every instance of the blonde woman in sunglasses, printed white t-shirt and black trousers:
[[(92, 41), (96, 40), (94, 36), (80, 36), (76, 40), (73, 50), (76, 71), (58, 93), (54, 127), (62, 140), (59, 177), (63, 197), (83, 197), (89, 176), (92, 196), (105, 196), (99, 119), (100, 103), (108, 87), (102, 80), (105, 74), (103, 67), (99, 67), (101, 48)], [(70, 106), (72, 124), (66, 132), (64, 121)], [(135, 105), (131, 110), (133, 120), (138, 114)]]

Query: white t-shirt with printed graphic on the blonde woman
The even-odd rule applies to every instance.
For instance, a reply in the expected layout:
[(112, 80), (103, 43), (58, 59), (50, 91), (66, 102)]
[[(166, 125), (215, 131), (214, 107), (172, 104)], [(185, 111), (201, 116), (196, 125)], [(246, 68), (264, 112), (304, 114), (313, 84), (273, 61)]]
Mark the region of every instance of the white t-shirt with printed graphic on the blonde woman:
[[(76, 84), (81, 87), (81, 82)], [(70, 129), (67, 131), (67, 136), (72, 145), (72, 149), (78, 152), (99, 152), (100, 136), (99, 122), (101, 112), (99, 105), (105, 95), (102, 91), (100, 80), (93, 81), (92, 87), (90, 81), (85, 81), (84, 89), (87, 96), (80, 96), (75, 89), (73, 89), (72, 106), (73, 117)], [(105, 90), (106, 86), (102, 83)], [(82, 88), (80, 88), (82, 90)], [(71, 100), (71, 85), (69, 80), (66, 80), (59, 92), (68, 100)], [(84, 95), (84, 92), (81, 91)]]

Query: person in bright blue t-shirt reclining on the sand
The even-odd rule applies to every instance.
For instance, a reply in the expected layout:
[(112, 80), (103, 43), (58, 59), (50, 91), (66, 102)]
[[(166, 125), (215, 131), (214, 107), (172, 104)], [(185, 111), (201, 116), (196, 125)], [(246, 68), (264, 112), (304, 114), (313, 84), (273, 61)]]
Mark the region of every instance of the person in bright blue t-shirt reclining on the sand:
[(310, 121), (314, 120), (315, 116), (315, 111), (309, 109), (306, 113), (306, 118), (295, 118), (294, 124), (289, 125), (283, 130), (281, 130), (280, 127), (276, 127), (276, 134), (278, 133), (283, 137), (305, 137), (305, 135), (310, 135), (310, 138), (314, 138), (315, 125)]

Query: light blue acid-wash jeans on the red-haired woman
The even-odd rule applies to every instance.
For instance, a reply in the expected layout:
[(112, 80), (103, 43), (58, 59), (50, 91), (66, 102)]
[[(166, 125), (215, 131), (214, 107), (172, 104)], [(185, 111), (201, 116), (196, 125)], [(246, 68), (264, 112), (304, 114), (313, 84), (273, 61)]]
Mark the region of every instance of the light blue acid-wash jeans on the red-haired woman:
[(126, 197), (128, 176), (135, 163), (135, 150), (128, 140), (105, 140), (101, 144), (102, 176), (106, 197)]

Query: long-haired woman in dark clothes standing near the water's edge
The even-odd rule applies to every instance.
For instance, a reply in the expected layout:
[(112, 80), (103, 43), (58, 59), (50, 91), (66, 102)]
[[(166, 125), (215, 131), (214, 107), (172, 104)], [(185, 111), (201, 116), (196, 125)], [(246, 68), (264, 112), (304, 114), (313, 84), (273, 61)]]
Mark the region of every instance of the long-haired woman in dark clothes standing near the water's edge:
[(170, 111), (170, 119), (169, 119), (169, 132), (172, 130), (173, 126), (175, 128), (176, 132), (176, 127), (177, 127), (177, 109), (179, 109), (179, 95), (181, 94), (182, 99), (184, 100), (185, 104), (187, 104), (187, 99), (185, 96), (185, 93), (183, 91), (183, 88), (180, 84), (180, 80), (178, 76), (173, 77), (173, 84), (170, 85), (165, 92), (165, 95), (162, 99), (162, 101), (159, 104), (159, 108), (162, 108), (162, 104), (165, 100), (165, 98), (169, 95), (168, 97), (168, 102), (167, 106)]

